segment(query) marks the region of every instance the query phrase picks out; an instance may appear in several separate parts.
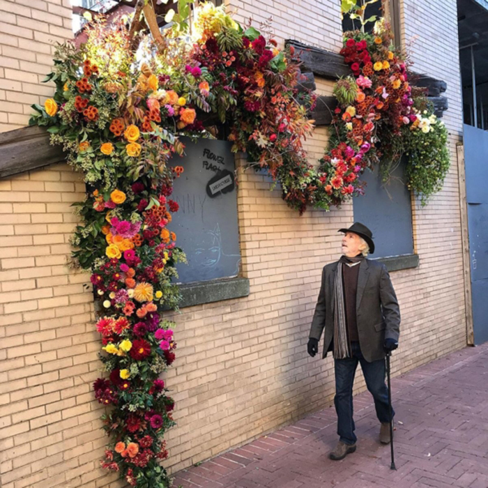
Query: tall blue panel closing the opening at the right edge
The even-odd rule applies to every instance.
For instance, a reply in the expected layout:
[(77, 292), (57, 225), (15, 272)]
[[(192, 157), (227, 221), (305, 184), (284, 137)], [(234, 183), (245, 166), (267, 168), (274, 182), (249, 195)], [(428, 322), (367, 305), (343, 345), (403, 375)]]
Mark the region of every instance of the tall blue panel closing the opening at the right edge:
[(488, 341), (488, 131), (464, 125), (474, 343)]

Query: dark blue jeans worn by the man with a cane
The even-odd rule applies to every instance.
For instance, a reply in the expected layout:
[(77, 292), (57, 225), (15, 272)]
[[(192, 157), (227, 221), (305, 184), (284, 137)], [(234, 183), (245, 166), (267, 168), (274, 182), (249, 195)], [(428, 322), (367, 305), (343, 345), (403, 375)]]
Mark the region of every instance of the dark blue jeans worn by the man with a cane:
[[(368, 363), (363, 357), (359, 342), (351, 342), (352, 358), (335, 359), (335, 411), (337, 412), (337, 434), (340, 441), (353, 444), (357, 438), (354, 434), (353, 420), (353, 382), (358, 362), (363, 369), (366, 386), (374, 398), (376, 416), (380, 422), (390, 422), (388, 406), (388, 387), (385, 383), (385, 360)], [(395, 411), (392, 412), (395, 415)]]

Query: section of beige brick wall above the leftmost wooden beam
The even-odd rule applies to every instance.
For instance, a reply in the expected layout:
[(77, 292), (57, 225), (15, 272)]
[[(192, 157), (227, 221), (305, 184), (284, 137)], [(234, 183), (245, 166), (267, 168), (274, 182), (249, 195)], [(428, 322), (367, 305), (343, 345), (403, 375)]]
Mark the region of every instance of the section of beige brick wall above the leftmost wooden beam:
[(52, 96), (41, 83), (53, 43), (73, 38), (70, 0), (0, 0), (0, 132), (29, 123), (33, 103)]

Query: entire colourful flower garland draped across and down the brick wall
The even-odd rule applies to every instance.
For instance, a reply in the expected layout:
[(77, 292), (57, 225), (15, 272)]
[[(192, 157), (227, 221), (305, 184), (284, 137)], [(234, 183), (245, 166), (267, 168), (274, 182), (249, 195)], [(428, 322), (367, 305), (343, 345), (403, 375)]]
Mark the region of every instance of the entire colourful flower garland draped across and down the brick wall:
[[(363, 192), (358, 177), (392, 152), (392, 140), (415, 142), (410, 182), (420, 188), (416, 175), (430, 171), (422, 135), (443, 128), (421, 104), (413, 108), (406, 66), (390, 49), (388, 31), (348, 33), (342, 53), (353, 77), (336, 86), (330, 149), (314, 169), (302, 143), (313, 129), (307, 114), (316, 96), (300, 90), (293, 47), (277, 49), (211, 3), (195, 10), (191, 42), (186, 29), (165, 29), (165, 52), (151, 38), (133, 52), (124, 20), (98, 17), (86, 27), (84, 45), (56, 49), (47, 77), (56, 92), (43, 107), (33, 105), (31, 119), (47, 126), (52, 144), (84, 174), (73, 262), (91, 273), (108, 373), (93, 385), (98, 402), (111, 407), (103, 417), (111, 441), (102, 466), (138, 488), (171, 486), (159, 461), (168, 455), (162, 438), (174, 425), (174, 401), (160, 374), (176, 349), (174, 324), (162, 310), (178, 306), (175, 265), (185, 261), (167, 229), (178, 211), (172, 182), (184, 171), (167, 165), (183, 154), (178, 137), (213, 137), (215, 118), (225, 123), (233, 150), (268, 169), (287, 204), (303, 213)], [(437, 150), (431, 167), (441, 178), (447, 169), (437, 162), (445, 153)]]

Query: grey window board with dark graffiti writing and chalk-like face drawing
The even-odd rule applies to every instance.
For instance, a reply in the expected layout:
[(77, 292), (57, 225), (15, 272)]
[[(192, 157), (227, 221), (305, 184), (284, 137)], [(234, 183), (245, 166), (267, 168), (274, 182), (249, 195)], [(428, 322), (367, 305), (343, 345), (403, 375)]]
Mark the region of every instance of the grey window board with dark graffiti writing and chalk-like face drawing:
[(238, 275), (241, 263), (237, 222), (234, 154), (231, 143), (183, 139), (185, 156), (170, 165), (183, 166), (174, 180), (172, 199), (179, 211), (168, 228), (188, 264), (178, 264), (178, 282), (204, 282)]

